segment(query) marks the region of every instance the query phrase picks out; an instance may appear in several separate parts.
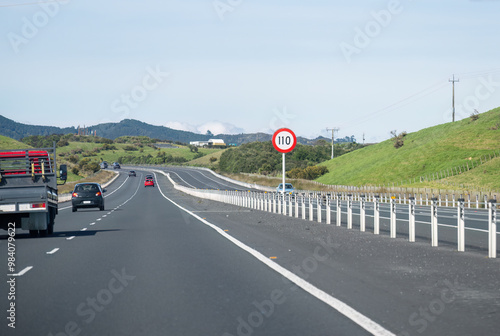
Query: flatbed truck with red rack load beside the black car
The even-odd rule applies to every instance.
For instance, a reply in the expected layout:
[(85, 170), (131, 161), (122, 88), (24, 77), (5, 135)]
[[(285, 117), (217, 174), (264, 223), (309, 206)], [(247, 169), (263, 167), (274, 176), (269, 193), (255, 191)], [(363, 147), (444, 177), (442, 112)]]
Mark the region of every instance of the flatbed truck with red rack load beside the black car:
[[(59, 179), (66, 181), (67, 167)], [(29, 230), (33, 237), (54, 231), (57, 215), (56, 147), (0, 150), (0, 229)]]

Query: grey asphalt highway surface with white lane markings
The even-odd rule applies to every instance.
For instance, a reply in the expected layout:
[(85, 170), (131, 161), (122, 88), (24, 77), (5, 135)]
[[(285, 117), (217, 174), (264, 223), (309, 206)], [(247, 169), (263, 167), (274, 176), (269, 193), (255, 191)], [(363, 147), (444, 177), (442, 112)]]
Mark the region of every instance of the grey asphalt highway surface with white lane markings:
[(62, 203), (54, 235), (17, 231), (13, 276), (0, 232), (0, 335), (498, 333), (496, 259), (197, 199), (158, 173), (145, 188), (136, 171), (107, 188), (106, 211)]

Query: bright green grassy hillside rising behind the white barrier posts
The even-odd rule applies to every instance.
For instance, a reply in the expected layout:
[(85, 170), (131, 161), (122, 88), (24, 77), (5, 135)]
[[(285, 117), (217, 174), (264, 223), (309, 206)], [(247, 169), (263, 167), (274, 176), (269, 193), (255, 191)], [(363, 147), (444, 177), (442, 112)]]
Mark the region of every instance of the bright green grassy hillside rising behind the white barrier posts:
[[(400, 148), (389, 139), (326, 161), (322, 165), (330, 172), (316, 181), (415, 188), (467, 184), (500, 190), (500, 108), (479, 114), (476, 120), (409, 133), (403, 141)], [(452, 170), (455, 176), (448, 177)]]

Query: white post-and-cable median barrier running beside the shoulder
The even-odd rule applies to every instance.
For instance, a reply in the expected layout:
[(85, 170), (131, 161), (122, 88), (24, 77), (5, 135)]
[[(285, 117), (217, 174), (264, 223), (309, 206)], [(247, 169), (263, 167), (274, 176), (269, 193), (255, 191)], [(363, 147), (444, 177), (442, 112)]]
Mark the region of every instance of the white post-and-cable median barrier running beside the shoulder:
[[(177, 184), (170, 178), (170, 175), (157, 171), (166, 175), (174, 187), (186, 194), (210, 199), (213, 201), (233, 204), (241, 207), (247, 207), (260, 211), (267, 211), (284, 216), (302, 218), (303, 220), (316, 221), (318, 223), (342, 225), (342, 215), (347, 215), (347, 228), (353, 228), (353, 207), (354, 204), (359, 206), (359, 229), (366, 231), (366, 218), (373, 217), (373, 233), (380, 234), (380, 220), (388, 219), (389, 236), (396, 238), (396, 222), (405, 220), (408, 222), (408, 240), (415, 242), (415, 227), (416, 227), (416, 212), (415, 207), (420, 205), (430, 206), (430, 226), (431, 226), (431, 246), (438, 246), (438, 225), (444, 225), (455, 228), (452, 225), (438, 224), (438, 209), (448, 208), (455, 209), (457, 214), (457, 251), (465, 251), (465, 230), (476, 230), (465, 227), (465, 208), (469, 207), (471, 200), (458, 198), (452, 200), (443, 200), (438, 197), (423, 198), (408, 197), (403, 198), (401, 195), (376, 195), (376, 194), (349, 194), (349, 193), (313, 193), (301, 192), (298, 194), (288, 194), (283, 197), (281, 193), (275, 192), (255, 192), (255, 191), (227, 191), (227, 190), (206, 190), (193, 189)], [(479, 208), (479, 200), (476, 200), (476, 207)], [(373, 208), (373, 215), (368, 215), (366, 212), (367, 205)], [(389, 217), (381, 216), (381, 205), (389, 206)], [(444, 205), (444, 206), (443, 206)], [(449, 206), (451, 205), (451, 207)], [(496, 199), (485, 200), (485, 206), (488, 210), (488, 257), (496, 258), (497, 256), (497, 201)], [(397, 210), (408, 210), (407, 219), (397, 219)], [(345, 211), (343, 210), (345, 209)], [(335, 216), (333, 216), (335, 213)], [(325, 216), (323, 216), (323, 214)], [(357, 215), (357, 214), (356, 214)], [(429, 223), (425, 223), (429, 224)]]

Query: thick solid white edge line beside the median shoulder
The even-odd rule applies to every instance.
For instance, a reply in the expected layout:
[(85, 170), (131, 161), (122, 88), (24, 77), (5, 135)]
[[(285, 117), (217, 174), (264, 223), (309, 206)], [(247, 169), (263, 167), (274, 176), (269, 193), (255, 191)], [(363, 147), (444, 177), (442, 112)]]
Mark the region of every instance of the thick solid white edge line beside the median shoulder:
[[(156, 178), (156, 174), (155, 174), (155, 178)], [(281, 274), (282, 276), (286, 277), (288, 280), (290, 280), (291, 282), (295, 283), (297, 286), (301, 287), (302, 289), (304, 289), (306, 292), (308, 292), (312, 296), (318, 298), (319, 300), (323, 301), (324, 303), (326, 303), (327, 305), (329, 305), (333, 309), (337, 310), (339, 313), (341, 313), (345, 317), (349, 318), (351, 321), (355, 322), (356, 324), (358, 324), (360, 327), (364, 328), (368, 332), (372, 333), (373, 335), (395, 336), (395, 334), (393, 334), (389, 330), (385, 329), (384, 327), (382, 327), (381, 325), (379, 325), (375, 321), (372, 321), (368, 317), (364, 316), (360, 312), (356, 311), (354, 308), (350, 307), (349, 305), (345, 304), (344, 302), (340, 301), (339, 299), (334, 298), (333, 296), (329, 295), (328, 293), (324, 292), (323, 290), (319, 289), (318, 287), (310, 284), (309, 282), (305, 281), (301, 277), (299, 277), (296, 274), (290, 272), (286, 268), (280, 266), (279, 264), (277, 264), (276, 262), (272, 261), (271, 259), (269, 259), (265, 255), (261, 254), (257, 250), (254, 250), (253, 248), (251, 248), (250, 246), (242, 243), (238, 239), (230, 236), (224, 230), (222, 230), (221, 228), (217, 227), (216, 225), (214, 225), (214, 224), (212, 224), (212, 223), (204, 220), (200, 216), (192, 213), (191, 211), (189, 211), (189, 210), (183, 208), (182, 206), (180, 206), (179, 204), (175, 203), (173, 200), (171, 200), (170, 198), (168, 198), (167, 196), (165, 196), (165, 194), (161, 190), (160, 185), (158, 185), (158, 190), (160, 191), (160, 193), (162, 194), (162, 196), (166, 200), (168, 200), (169, 202), (171, 202), (173, 205), (175, 205), (176, 207), (178, 207), (182, 211), (188, 213), (189, 215), (193, 216), (194, 218), (198, 219), (203, 224), (211, 227), (217, 233), (219, 233), (221, 236), (223, 236), (227, 240), (231, 241), (233, 244), (235, 244), (236, 246), (238, 246), (242, 250), (250, 253), (257, 260), (259, 260), (260, 262), (266, 264), (269, 268), (271, 268), (272, 270), (274, 270), (277, 273)]]

